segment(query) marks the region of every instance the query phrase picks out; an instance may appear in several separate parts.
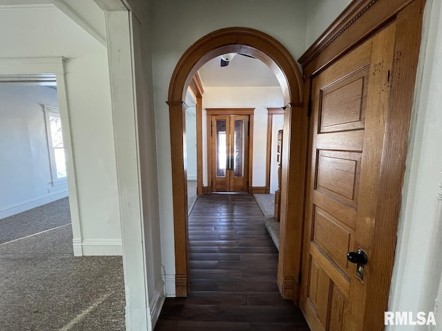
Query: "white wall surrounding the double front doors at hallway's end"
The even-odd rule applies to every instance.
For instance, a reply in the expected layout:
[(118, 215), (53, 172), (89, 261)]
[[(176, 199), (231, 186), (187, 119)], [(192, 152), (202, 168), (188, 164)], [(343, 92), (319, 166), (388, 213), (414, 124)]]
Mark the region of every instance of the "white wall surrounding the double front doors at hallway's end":
[[(276, 86), (206, 87), (202, 98), (203, 184), (207, 185), (206, 108), (255, 108), (253, 115), (253, 187), (266, 186), (267, 108), (284, 106), (282, 90)], [(209, 169), (210, 171), (210, 169)]]

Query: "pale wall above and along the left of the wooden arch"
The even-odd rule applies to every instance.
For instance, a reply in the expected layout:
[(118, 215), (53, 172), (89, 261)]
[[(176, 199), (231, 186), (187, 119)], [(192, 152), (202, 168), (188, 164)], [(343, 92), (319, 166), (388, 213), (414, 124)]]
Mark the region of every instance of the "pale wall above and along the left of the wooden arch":
[[(306, 5), (304, 0), (227, 0), (222, 6), (213, 1), (153, 1), (153, 88), (157, 164), (160, 194), (162, 256), (169, 282), (168, 294), (174, 292), (175, 252), (171, 177), (171, 142), (169, 110), (166, 105), (171, 75), (178, 60), (195, 41), (204, 35), (229, 26), (256, 28), (276, 37), (295, 58), (305, 50)], [(189, 19), (193, 17), (194, 19)], [(171, 23), (173, 22), (173, 23)], [(204, 98), (203, 98), (204, 99)], [(278, 105), (280, 106), (280, 105)], [(166, 279), (166, 285), (168, 283)]]

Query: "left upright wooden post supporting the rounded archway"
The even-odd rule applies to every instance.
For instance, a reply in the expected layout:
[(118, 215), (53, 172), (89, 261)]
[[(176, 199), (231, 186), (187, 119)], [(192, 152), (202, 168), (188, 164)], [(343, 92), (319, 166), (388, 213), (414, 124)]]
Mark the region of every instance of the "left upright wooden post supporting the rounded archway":
[[(173, 225), (175, 229), (175, 291), (176, 296), (187, 296), (189, 278), (189, 254), (187, 241), (187, 173), (184, 151), (186, 149), (186, 104), (167, 102), (171, 130)], [(184, 180), (183, 180), (184, 178)]]

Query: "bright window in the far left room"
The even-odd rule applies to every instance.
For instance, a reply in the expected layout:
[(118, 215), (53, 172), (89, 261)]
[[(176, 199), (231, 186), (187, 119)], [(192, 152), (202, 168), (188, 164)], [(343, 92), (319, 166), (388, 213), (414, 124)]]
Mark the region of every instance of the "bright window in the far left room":
[(59, 108), (44, 106), (46, 116), (46, 133), (48, 135), (48, 148), (52, 185), (66, 180), (66, 159), (64, 156), (63, 133)]

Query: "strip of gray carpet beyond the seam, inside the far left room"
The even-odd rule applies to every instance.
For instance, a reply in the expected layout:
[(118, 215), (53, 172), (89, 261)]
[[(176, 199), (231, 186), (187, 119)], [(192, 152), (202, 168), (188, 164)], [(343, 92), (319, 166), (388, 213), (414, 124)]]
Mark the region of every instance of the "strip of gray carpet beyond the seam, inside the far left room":
[(0, 244), (70, 223), (69, 198), (0, 220)]

